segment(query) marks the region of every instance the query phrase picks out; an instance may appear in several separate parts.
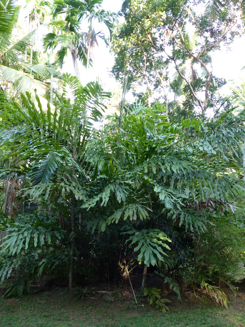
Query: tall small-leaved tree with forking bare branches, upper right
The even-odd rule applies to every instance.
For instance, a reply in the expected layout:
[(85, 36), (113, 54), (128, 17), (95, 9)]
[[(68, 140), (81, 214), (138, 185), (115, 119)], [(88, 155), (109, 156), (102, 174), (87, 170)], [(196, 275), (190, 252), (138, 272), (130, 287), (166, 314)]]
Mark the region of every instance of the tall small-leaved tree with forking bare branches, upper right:
[(202, 6), (188, 0), (125, 0), (124, 21), (114, 32), (112, 73), (123, 82), (127, 71), (128, 89), (143, 84), (147, 101), (151, 95), (161, 99), (167, 113), (178, 112), (179, 118), (190, 117), (197, 106), (202, 113), (223, 107), (226, 99), (216, 91), (224, 81), (212, 75), (212, 51), (241, 35), (243, 12), (243, 1), (210, 0)]

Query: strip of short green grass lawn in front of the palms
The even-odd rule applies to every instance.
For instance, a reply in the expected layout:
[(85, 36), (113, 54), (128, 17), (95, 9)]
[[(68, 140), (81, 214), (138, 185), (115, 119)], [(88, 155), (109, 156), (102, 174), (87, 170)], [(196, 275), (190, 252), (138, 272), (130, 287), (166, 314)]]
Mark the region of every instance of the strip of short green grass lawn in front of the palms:
[(228, 310), (190, 292), (182, 302), (172, 301), (167, 314), (144, 299), (136, 305), (130, 297), (116, 295), (114, 302), (105, 302), (99, 293), (90, 296), (94, 298), (78, 299), (62, 288), (0, 300), (0, 327), (245, 327), (242, 292)]

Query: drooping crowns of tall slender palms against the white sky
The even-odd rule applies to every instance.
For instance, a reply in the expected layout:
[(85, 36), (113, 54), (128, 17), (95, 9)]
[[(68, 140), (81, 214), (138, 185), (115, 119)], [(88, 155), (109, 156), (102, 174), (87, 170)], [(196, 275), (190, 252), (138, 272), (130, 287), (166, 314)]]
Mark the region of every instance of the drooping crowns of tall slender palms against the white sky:
[[(97, 19), (99, 23), (103, 22), (108, 27), (111, 34), (114, 14), (101, 9), (102, 2), (101, 0), (55, 0), (54, 2), (53, 18), (57, 19), (63, 14), (65, 14), (65, 18), (63, 21), (54, 20), (52, 22), (54, 27), (59, 27), (59, 31), (56, 32), (54, 30), (44, 37), (44, 48), (47, 50), (60, 46), (56, 55), (60, 67), (62, 67), (69, 49), (72, 55), (75, 76), (78, 79), (80, 79), (78, 60), (87, 69), (89, 68), (89, 65), (92, 63), (91, 53), (93, 46), (95, 43), (98, 44), (96, 38), (102, 38), (108, 45), (105, 35), (101, 32), (95, 33), (92, 25), (94, 19)], [(89, 30), (84, 33), (81, 31), (80, 26), (86, 18), (89, 19)]]

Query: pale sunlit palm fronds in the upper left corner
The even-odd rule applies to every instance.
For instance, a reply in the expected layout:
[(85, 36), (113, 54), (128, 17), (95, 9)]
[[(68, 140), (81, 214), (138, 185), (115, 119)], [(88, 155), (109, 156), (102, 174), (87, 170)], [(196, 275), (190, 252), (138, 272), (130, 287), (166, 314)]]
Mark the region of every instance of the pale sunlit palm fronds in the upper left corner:
[[(19, 93), (26, 91), (35, 96), (45, 95), (47, 85), (34, 78), (32, 73), (47, 77), (52, 69), (43, 65), (28, 64), (24, 59), (25, 51), (31, 48), (31, 38), (35, 30), (18, 42), (12, 41), (12, 32), (18, 21), (20, 7), (14, 0), (0, 2), (0, 88), (5, 91), (9, 82), (14, 82)], [(22, 58), (22, 59), (21, 59)]]

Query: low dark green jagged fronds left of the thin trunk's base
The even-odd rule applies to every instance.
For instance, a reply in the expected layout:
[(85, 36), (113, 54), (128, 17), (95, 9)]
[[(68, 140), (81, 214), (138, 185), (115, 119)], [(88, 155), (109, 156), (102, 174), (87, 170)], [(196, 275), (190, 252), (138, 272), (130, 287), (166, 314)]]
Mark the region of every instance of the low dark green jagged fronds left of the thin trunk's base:
[[(37, 276), (61, 268), (67, 260), (68, 249), (61, 247), (66, 231), (51, 216), (34, 213), (28, 217), (7, 220), (7, 235), (0, 245), (0, 283), (15, 275), (5, 297), (21, 296), (24, 286), (30, 288)], [(6, 220), (2, 217), (2, 226)]]

